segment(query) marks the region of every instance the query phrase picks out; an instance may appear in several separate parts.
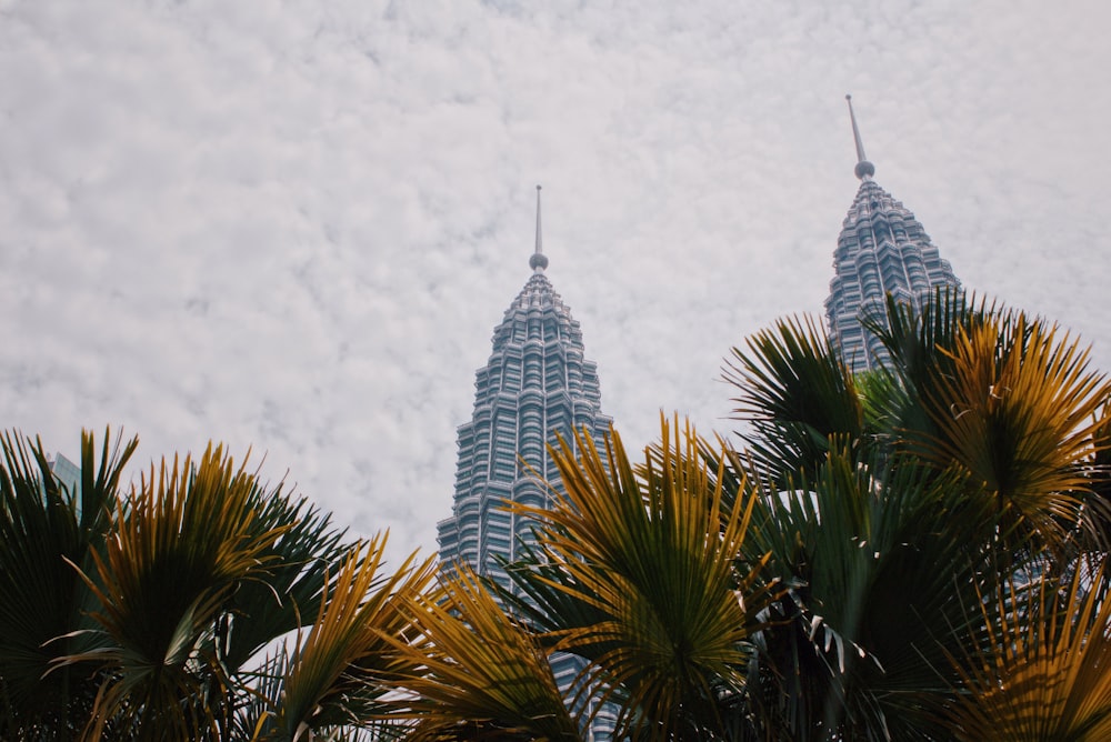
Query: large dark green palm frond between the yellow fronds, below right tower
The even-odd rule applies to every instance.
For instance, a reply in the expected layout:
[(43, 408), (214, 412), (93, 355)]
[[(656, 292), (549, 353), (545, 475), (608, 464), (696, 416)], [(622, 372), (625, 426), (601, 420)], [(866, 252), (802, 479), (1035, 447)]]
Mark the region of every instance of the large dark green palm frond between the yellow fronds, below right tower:
[(762, 493), (747, 552), (770, 553), (789, 589), (758, 638), (751, 692), (770, 723), (799, 740), (924, 739), (920, 692), (945, 658), (934, 629), (967, 621), (993, 532), (968, 491), (959, 471), (862, 463), (834, 440), (812, 481)]

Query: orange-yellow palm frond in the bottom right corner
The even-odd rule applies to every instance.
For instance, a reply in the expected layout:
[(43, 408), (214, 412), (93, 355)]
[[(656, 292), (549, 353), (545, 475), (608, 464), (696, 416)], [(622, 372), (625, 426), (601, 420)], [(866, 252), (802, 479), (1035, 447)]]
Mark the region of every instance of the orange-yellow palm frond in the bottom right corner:
[(1100, 563), (1080, 565), (1063, 583), (1011, 580), (985, 600), (987, 641), (951, 658), (962, 681), (944, 714), (953, 736), (970, 742), (1111, 739), (1108, 598)]

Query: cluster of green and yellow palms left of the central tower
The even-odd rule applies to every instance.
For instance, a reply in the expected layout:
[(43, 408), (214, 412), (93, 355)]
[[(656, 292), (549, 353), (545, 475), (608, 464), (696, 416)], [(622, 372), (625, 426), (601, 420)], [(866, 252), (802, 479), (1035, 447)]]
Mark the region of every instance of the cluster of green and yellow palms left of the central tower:
[(327, 515), (261, 487), (219, 447), (152, 464), (121, 494), (134, 444), (113, 454), (106, 443), (98, 468), (87, 434), (74, 493), (41, 444), (28, 454), (16, 434), (2, 441), (3, 735), (380, 730), (377, 699), (402, 666), (399, 606), (424, 591), (432, 562), (384, 573), (384, 538), (344, 542)]

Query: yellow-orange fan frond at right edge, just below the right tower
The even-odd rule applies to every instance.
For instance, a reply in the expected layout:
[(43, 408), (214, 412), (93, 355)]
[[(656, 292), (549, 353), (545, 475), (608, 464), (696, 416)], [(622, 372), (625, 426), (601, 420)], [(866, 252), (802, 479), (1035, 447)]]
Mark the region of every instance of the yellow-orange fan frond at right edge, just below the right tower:
[(1089, 351), (1022, 314), (961, 328), (947, 379), (927, 400), (939, 434), (927, 455), (960, 463), (1000, 509), (1049, 538), (1074, 522), (1091, 480), (1095, 413), (1108, 400)]

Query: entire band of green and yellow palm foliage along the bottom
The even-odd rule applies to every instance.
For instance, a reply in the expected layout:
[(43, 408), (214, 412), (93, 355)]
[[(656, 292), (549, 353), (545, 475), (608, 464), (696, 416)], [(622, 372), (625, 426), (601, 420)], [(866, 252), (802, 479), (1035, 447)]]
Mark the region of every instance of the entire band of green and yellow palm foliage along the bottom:
[(0, 736), (1108, 739), (1111, 385), (961, 293), (868, 328), (863, 374), (804, 318), (735, 349), (732, 439), (562, 440), (508, 583), (389, 572), (219, 448), (124, 494), (86, 437), (71, 491), (10, 434)]

